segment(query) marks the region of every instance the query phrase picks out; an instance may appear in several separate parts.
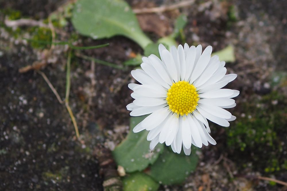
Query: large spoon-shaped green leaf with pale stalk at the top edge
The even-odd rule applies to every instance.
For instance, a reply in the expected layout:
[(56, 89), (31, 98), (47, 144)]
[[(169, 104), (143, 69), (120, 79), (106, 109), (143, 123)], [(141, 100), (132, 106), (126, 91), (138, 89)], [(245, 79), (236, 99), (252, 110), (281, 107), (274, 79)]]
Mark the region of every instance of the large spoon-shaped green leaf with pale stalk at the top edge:
[(123, 35), (142, 48), (152, 41), (143, 33), (131, 7), (123, 0), (80, 0), (72, 23), (79, 33), (93, 39)]

